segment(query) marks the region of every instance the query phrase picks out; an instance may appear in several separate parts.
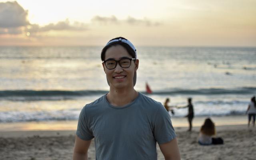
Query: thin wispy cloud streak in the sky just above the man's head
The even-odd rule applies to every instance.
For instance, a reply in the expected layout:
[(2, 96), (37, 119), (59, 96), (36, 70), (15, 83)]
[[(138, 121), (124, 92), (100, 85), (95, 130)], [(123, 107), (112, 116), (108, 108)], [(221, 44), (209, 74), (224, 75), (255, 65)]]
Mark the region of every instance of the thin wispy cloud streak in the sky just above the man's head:
[(92, 22), (98, 22), (100, 24), (129, 24), (129, 25), (144, 25), (144, 26), (158, 26), (160, 23), (158, 22), (152, 22), (147, 18), (144, 19), (136, 19), (131, 16), (128, 16), (125, 20), (119, 20), (116, 18), (116, 16), (110, 16), (110, 17), (102, 17), (102, 16), (94, 16), (92, 18)]

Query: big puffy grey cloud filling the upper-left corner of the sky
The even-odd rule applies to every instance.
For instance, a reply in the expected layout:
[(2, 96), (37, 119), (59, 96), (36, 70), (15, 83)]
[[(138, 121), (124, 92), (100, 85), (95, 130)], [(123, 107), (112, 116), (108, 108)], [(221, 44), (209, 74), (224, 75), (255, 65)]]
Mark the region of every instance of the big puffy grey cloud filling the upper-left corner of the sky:
[(14, 2), (0, 2), (0, 28), (17, 28), (29, 24), (28, 11)]

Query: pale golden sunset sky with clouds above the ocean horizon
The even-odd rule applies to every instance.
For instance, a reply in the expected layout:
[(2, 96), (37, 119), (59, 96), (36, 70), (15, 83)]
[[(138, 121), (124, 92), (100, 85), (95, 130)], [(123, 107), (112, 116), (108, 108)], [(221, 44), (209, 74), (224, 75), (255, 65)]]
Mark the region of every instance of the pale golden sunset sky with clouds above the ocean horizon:
[(256, 0), (0, 0), (0, 46), (256, 46)]

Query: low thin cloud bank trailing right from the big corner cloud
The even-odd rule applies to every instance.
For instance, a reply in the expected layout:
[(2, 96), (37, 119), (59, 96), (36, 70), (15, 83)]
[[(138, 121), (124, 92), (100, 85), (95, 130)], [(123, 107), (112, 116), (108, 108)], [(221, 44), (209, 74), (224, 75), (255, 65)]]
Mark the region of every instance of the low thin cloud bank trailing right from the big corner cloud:
[(34, 32), (48, 32), (50, 30), (73, 30), (73, 31), (81, 31), (87, 30), (87, 25), (80, 22), (74, 22), (74, 24), (70, 24), (69, 20), (60, 21), (56, 24), (50, 23), (46, 26), (39, 26), (38, 24), (32, 24), (28, 26), (26, 32), (34, 33)]

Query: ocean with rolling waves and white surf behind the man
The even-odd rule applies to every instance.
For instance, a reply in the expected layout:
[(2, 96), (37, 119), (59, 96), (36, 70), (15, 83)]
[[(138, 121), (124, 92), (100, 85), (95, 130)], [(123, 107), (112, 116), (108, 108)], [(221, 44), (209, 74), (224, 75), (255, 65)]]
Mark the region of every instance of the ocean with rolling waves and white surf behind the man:
[[(102, 47), (0, 46), (0, 125), (78, 120), (109, 86)], [(171, 106), (191, 97), (195, 116), (245, 115), (256, 95), (256, 48), (137, 47), (135, 89)], [(172, 118), (188, 109), (174, 108)]]

